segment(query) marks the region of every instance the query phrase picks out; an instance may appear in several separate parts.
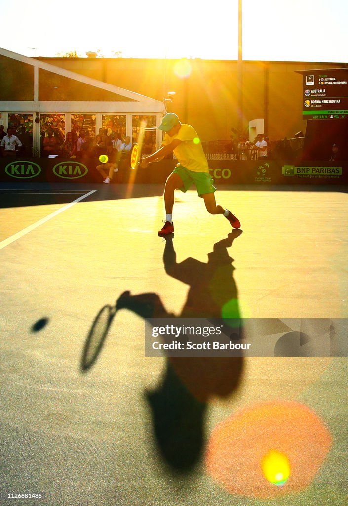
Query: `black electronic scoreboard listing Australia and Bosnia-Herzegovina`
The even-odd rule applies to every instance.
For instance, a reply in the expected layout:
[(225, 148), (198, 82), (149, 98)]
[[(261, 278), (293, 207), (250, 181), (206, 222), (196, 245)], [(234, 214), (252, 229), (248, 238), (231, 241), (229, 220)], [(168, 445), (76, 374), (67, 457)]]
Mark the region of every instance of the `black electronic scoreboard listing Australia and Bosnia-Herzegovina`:
[(302, 73), (302, 118), (348, 118), (348, 69)]

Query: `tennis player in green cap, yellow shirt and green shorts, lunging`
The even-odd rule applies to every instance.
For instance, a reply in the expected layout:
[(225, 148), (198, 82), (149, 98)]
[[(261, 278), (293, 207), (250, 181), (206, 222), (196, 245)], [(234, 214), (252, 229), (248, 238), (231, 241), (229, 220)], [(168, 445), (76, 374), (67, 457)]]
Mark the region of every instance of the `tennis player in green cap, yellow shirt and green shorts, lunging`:
[(233, 228), (240, 228), (239, 220), (230, 211), (215, 202), (213, 179), (209, 174), (208, 162), (193, 126), (179, 121), (179, 117), (168, 112), (163, 116), (159, 130), (165, 132), (161, 147), (151, 155), (143, 158), (142, 167), (150, 162), (161, 160), (167, 154), (174, 152), (179, 163), (168, 177), (164, 189), (165, 223), (158, 232), (165, 237), (174, 232), (172, 222), (172, 209), (174, 204), (174, 191), (179, 189), (186, 192), (194, 183), (198, 196), (204, 199), (205, 207), (211, 215), (223, 215)]

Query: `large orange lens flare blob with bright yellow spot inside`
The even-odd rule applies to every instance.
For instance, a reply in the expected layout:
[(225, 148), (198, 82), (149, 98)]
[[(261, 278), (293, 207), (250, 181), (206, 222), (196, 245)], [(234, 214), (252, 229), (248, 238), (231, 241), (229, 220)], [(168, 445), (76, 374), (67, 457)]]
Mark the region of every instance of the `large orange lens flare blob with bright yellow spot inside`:
[(273, 499), (307, 488), (331, 443), (328, 429), (309, 407), (285, 401), (257, 404), (215, 427), (206, 470), (231, 494)]

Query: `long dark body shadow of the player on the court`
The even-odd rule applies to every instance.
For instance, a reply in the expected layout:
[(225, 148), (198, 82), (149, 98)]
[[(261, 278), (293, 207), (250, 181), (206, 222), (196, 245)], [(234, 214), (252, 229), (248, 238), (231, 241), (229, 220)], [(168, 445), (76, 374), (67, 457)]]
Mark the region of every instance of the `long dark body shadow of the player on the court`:
[[(116, 309), (128, 309), (148, 318), (239, 318), (233, 259), (227, 248), (242, 233), (234, 230), (216, 242), (208, 262), (188, 258), (177, 263), (172, 237), (165, 242), (165, 272), (190, 286), (179, 316), (169, 314), (157, 293), (121, 294)], [(236, 320), (234, 320), (236, 321)], [(236, 339), (236, 335), (231, 335)], [(237, 339), (242, 339), (240, 334)], [(226, 398), (240, 382), (242, 357), (167, 357), (160, 386), (147, 392), (155, 437), (172, 471), (188, 473), (199, 461), (204, 446), (204, 413), (213, 397)]]

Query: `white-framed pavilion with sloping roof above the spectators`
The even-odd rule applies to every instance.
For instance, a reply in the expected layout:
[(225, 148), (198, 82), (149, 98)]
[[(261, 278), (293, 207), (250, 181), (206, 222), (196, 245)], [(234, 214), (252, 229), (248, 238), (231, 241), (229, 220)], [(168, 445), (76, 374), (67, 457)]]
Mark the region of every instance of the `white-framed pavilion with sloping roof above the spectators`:
[[(77, 120), (84, 128), (85, 118), (85, 124), (96, 134), (107, 121), (112, 124), (112, 118), (117, 118), (123, 125), (123, 136), (134, 139), (142, 118), (154, 135), (164, 113), (158, 100), (1, 48), (0, 74), (0, 124), (6, 130), (11, 118), (19, 117), (23, 123), (29, 117), (34, 150), (40, 147), (42, 124), (50, 114), (59, 116), (63, 135)], [(156, 145), (160, 143), (161, 132), (157, 130)]]

